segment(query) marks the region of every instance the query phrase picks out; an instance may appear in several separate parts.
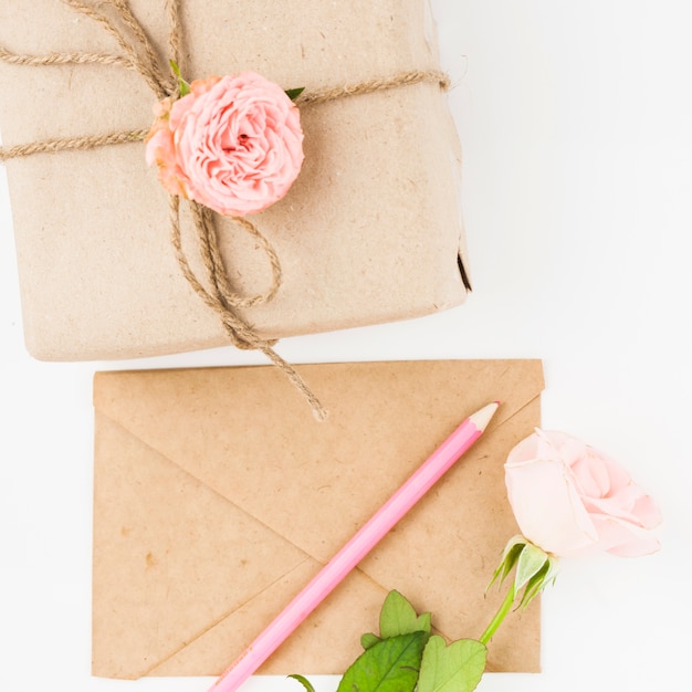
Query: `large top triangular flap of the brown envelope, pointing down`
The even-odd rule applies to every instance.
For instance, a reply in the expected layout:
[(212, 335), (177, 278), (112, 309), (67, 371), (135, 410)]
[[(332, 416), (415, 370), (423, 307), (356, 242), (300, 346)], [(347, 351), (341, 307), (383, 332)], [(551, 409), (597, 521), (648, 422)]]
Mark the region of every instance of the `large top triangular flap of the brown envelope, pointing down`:
[(272, 367), (99, 373), (94, 402), (325, 562), (465, 416), (501, 400), (490, 432), (543, 388), (538, 360), (322, 364), (300, 370), (329, 409), (324, 423), (296, 402)]

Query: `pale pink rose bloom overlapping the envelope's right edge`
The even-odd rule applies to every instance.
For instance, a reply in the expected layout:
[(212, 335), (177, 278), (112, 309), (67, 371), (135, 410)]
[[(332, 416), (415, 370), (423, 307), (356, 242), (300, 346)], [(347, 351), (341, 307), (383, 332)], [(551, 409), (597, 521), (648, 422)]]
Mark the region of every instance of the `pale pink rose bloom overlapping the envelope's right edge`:
[(522, 534), (547, 553), (633, 557), (660, 548), (653, 500), (615, 461), (564, 432), (536, 429), (522, 440), (505, 482)]

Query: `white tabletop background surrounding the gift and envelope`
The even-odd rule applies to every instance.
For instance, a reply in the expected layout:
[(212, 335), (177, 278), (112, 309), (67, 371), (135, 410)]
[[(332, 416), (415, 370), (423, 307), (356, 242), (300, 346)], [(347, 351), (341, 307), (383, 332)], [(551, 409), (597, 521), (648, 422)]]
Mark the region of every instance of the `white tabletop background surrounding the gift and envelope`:
[[(281, 345), (294, 363), (539, 357), (544, 428), (616, 457), (661, 505), (663, 551), (564, 563), (544, 598), (544, 672), (486, 675), (485, 692), (639, 692), (688, 679), (686, 6), (434, 0), (465, 153), (475, 291), (448, 313)], [(211, 679), (90, 677), (91, 378), (114, 367), (262, 360), (232, 349), (126, 364), (32, 360), (0, 176), (0, 690), (202, 692)], [(336, 678), (315, 681), (336, 686)], [(300, 688), (265, 678), (243, 689)]]

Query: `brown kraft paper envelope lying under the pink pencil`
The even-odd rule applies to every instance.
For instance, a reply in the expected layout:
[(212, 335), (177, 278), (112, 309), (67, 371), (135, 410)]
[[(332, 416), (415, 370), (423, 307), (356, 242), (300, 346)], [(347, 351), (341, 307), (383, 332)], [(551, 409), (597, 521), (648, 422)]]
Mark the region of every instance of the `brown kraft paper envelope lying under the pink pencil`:
[[(260, 672), (342, 673), (398, 589), (448, 638), (478, 637), (517, 530), (503, 462), (539, 424), (539, 360), (301, 366), (317, 423), (270, 367), (97, 373), (96, 675), (224, 670), (470, 413), (481, 440)], [(539, 608), (512, 615), (490, 669), (536, 671)]]

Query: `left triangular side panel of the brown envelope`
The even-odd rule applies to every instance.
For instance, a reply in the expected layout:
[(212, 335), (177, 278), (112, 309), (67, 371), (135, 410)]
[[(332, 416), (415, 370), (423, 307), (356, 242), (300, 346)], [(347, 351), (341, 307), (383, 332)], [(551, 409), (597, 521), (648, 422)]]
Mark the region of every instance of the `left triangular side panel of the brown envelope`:
[(149, 674), (216, 623), (238, 627), (277, 580), (304, 580), (314, 560), (290, 542), (98, 412), (95, 432), (94, 674)]

